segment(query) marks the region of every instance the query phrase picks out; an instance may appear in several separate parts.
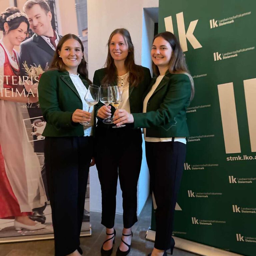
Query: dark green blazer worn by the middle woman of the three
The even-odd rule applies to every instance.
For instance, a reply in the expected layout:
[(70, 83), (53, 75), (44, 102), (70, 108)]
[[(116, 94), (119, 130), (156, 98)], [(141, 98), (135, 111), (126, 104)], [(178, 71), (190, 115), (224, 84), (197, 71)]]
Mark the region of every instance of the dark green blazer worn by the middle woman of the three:
[[(132, 87), (131, 85), (129, 86), (129, 103), (130, 103), (130, 110), (131, 113), (140, 113), (142, 112), (143, 109), (143, 94), (145, 93), (146, 89), (148, 88), (150, 81), (151, 81), (151, 74), (150, 70), (148, 68), (142, 67), (144, 71), (144, 78), (143, 81), (137, 86), (137, 87)], [(106, 68), (98, 69), (94, 73), (93, 77), (93, 84), (100, 86), (101, 81), (103, 77), (106, 74)], [(117, 85), (117, 83), (111, 84), (111, 86)], [(99, 101), (99, 103), (95, 106), (95, 116), (97, 115), (98, 110), (104, 106), (103, 103)], [(111, 106), (111, 114), (113, 115), (115, 113), (115, 108)], [(97, 117), (99, 122), (97, 123), (98, 125), (103, 125), (105, 127), (109, 127), (109, 125), (104, 125), (102, 123), (101, 118)]]

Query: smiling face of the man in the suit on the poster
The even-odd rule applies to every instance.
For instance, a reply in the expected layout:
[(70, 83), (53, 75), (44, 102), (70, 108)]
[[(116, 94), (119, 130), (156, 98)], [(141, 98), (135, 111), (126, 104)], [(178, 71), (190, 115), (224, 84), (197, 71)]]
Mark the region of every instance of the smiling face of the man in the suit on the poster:
[(52, 32), (52, 14), (41, 8), (39, 4), (33, 5), (30, 9), (26, 10), (30, 28), (38, 36), (46, 36)]

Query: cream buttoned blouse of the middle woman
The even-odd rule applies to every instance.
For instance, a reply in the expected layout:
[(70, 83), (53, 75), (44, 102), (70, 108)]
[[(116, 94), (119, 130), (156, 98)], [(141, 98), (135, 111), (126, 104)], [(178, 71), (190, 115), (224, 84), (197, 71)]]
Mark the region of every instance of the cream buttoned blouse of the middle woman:
[(117, 76), (117, 85), (119, 87), (120, 93), (122, 95), (122, 102), (120, 102), (119, 109), (125, 109), (128, 113), (131, 113), (130, 102), (129, 102), (129, 72)]

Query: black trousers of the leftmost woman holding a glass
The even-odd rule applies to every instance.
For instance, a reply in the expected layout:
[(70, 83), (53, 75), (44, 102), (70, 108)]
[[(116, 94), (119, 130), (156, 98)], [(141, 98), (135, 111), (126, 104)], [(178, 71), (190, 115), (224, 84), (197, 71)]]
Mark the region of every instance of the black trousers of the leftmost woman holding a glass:
[(55, 256), (68, 255), (80, 245), (92, 146), (91, 137), (45, 138), (45, 168)]

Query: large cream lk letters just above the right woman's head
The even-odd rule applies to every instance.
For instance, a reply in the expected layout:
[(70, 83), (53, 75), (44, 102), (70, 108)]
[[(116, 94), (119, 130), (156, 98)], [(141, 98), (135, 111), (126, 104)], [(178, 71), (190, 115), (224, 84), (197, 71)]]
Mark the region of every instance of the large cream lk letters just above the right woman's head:
[[(188, 30), (186, 32), (183, 12), (177, 13), (176, 19), (177, 19), (180, 45), (183, 52), (186, 52), (188, 50), (187, 40), (190, 42), (190, 44), (194, 49), (202, 48), (203, 46), (198, 42), (198, 40), (193, 34), (198, 20), (191, 21), (188, 26)], [(174, 34), (172, 16), (164, 18), (164, 23), (165, 23), (165, 30), (172, 32)]]

